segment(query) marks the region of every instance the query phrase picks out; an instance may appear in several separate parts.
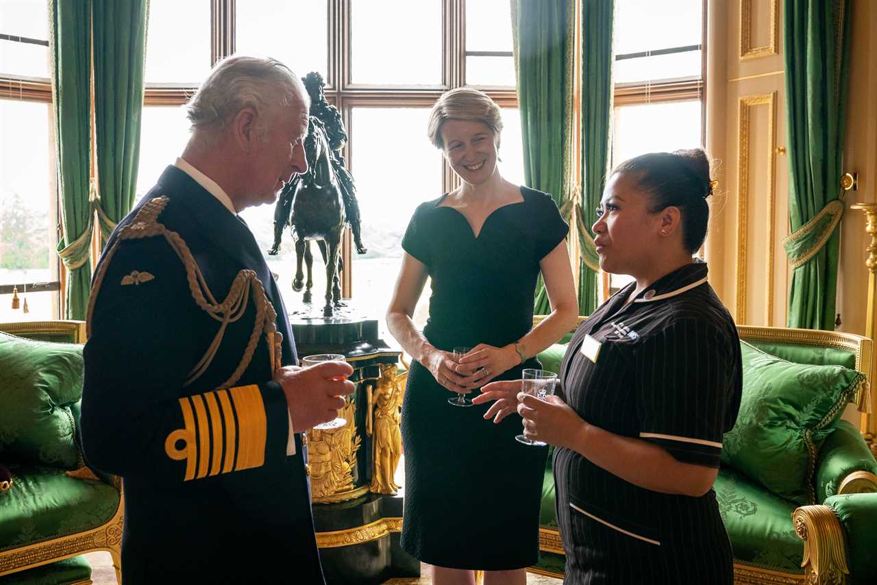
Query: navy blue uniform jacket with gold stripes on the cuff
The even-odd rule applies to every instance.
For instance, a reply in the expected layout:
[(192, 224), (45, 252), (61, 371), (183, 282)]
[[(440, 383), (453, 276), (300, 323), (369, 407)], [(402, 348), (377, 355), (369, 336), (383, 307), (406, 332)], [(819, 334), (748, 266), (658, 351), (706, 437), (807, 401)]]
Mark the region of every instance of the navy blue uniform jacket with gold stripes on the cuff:
[(256, 273), (277, 312), (282, 363), (296, 363), (286, 310), (253, 234), (168, 167), (111, 236), (106, 250), (118, 246), (96, 271), (109, 261), (92, 290), (85, 346), (83, 451), (90, 465), (123, 478), (125, 585), (323, 583), (304, 449), (296, 435), (296, 454), (286, 455), (287, 403), (271, 382), (264, 334), (234, 388), (219, 387), (253, 332), (253, 295), (210, 367), (185, 385), (221, 323), (193, 300), (167, 239), (118, 237), (156, 197), (168, 198), (157, 221), (185, 240), (217, 303), (240, 270)]

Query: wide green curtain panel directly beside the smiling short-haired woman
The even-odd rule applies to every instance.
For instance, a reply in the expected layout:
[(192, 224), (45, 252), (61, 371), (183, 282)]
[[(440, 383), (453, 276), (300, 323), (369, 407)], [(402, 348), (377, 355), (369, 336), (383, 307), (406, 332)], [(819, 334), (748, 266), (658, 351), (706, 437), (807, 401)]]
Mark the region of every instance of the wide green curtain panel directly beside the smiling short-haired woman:
[[(573, 90), (573, 4), (570, 0), (511, 0), (517, 104), (524, 143), (524, 181), (551, 194), (571, 218), (569, 148)], [(533, 307), (551, 311), (539, 277)]]

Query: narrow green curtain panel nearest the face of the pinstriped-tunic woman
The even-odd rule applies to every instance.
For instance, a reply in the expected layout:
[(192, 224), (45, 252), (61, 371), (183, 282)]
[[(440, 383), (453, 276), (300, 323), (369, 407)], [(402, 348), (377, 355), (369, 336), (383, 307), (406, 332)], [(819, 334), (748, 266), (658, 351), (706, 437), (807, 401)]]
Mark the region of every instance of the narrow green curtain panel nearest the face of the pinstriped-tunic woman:
[(600, 304), (599, 258), (591, 225), (602, 198), (610, 161), (612, 119), (612, 21), (615, 0), (583, 0), (581, 4), (581, 202), (579, 228), (579, 313), (590, 315)]

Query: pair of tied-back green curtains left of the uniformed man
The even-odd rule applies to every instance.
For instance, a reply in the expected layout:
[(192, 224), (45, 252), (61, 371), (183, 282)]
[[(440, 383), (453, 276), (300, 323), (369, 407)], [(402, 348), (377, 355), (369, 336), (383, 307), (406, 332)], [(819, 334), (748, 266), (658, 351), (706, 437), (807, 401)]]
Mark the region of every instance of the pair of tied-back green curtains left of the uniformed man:
[[(139, 162), (147, 0), (51, 0), (52, 94), (68, 270), (65, 317), (84, 319), (91, 289), (91, 238), (102, 244), (132, 208)], [(90, 192), (91, 56), (94, 35), (95, 134), (100, 196)]]

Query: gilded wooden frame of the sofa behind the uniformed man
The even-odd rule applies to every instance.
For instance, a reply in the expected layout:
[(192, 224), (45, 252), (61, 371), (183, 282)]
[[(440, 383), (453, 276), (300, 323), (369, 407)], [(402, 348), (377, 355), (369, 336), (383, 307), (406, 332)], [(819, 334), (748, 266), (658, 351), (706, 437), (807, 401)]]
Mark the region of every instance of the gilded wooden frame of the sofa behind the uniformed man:
[[(74, 343), (85, 343), (85, 322), (72, 320), (31, 321), (0, 324), (0, 332), (21, 337), (40, 333), (68, 334)], [(122, 527), (125, 517), (125, 496), (121, 481), (116, 478), (119, 489), (118, 508), (105, 524), (88, 531), (76, 532), (57, 539), (44, 540), (33, 545), (0, 552), (0, 576), (17, 573), (32, 567), (47, 565), (84, 553), (107, 551), (116, 569), (116, 581), (122, 583)], [(14, 488), (13, 488), (14, 489)]]

